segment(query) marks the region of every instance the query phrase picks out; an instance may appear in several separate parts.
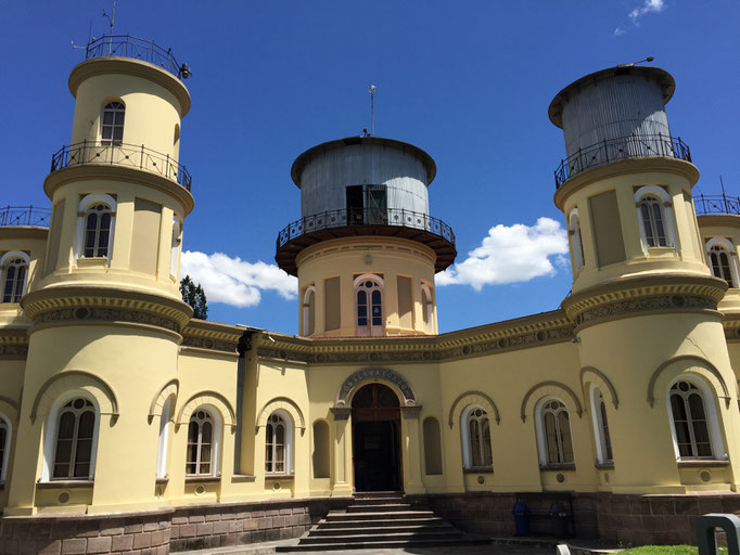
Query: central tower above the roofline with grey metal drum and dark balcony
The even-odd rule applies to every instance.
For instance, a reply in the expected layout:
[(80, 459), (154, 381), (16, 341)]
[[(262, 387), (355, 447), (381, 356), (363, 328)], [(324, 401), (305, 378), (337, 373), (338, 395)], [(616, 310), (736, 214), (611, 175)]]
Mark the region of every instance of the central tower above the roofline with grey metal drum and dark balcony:
[(455, 234), (429, 215), (436, 166), (408, 143), (350, 137), (293, 164), (302, 218), (276, 260), (298, 276), (301, 335), (436, 333), (434, 274), (455, 260)]

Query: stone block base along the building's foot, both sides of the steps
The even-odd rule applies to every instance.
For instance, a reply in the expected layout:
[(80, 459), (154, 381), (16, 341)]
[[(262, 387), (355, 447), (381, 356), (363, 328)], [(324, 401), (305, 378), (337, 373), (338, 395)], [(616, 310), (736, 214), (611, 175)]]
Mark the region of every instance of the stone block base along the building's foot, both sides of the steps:
[[(514, 534), (512, 508), (524, 501), (532, 533), (552, 535), (549, 508), (562, 503), (571, 535), (622, 545), (696, 544), (699, 515), (740, 515), (740, 494), (615, 495), (612, 493), (454, 493), (416, 495), (459, 528), (494, 537)], [(349, 498), (264, 501), (90, 516), (0, 518), (0, 555), (167, 555), (297, 538)]]

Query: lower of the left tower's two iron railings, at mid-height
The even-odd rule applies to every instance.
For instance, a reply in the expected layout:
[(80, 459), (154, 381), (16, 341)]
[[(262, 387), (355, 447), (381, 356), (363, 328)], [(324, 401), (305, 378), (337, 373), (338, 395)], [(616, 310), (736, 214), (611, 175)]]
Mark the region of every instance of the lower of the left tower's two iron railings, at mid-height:
[(84, 164), (143, 169), (171, 179), (188, 191), (192, 184), (192, 177), (182, 164), (178, 164), (169, 154), (152, 151), (143, 144), (82, 141), (62, 146), (51, 157), (51, 171)]

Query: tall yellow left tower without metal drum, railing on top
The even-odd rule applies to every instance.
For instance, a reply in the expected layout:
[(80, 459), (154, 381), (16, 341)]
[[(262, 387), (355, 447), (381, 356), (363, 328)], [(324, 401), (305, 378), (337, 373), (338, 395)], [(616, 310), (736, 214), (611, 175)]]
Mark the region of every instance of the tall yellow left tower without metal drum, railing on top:
[[(157, 450), (130, 438), (157, 444), (151, 403), (177, 378), (192, 315), (178, 287), (193, 208), (178, 159), (181, 77), (169, 50), (130, 36), (91, 42), (72, 70), (72, 144), (52, 157), (47, 254), (21, 304), (33, 325), (5, 514), (162, 503)], [(126, 475), (152, 481), (122, 489)]]

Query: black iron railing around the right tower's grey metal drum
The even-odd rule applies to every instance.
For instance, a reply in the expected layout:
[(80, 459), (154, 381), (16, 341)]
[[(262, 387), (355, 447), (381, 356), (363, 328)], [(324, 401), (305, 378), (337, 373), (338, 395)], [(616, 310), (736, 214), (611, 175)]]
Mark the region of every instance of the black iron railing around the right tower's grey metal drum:
[(554, 171), (556, 189), (560, 189), (573, 176), (603, 164), (655, 156), (691, 162), (691, 151), (679, 137), (658, 133), (605, 139), (587, 149), (578, 149), (578, 152), (561, 160)]

